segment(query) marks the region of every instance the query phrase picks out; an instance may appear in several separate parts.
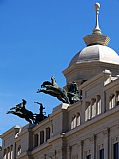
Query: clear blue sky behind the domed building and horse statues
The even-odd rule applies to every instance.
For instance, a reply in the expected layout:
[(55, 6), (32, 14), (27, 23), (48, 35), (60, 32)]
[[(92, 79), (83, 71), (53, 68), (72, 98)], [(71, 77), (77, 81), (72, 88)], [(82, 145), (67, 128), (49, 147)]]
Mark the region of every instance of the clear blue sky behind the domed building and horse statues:
[[(95, 26), (95, 0), (0, 0), (0, 134), (23, 119), (6, 112), (24, 98), (27, 108), (38, 113), (39, 101), (47, 114), (60, 102), (37, 94), (54, 75), (66, 84), (62, 71), (85, 47), (83, 37)], [(119, 52), (119, 0), (99, 0), (100, 28)]]

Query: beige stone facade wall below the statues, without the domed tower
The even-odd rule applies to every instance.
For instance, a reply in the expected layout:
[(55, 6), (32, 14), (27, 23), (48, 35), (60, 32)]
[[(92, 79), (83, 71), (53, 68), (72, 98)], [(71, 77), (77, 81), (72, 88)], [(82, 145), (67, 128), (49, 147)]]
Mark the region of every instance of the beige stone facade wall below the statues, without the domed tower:
[[(7, 159), (14, 159), (14, 155), (17, 159), (86, 159), (87, 155), (99, 159), (101, 149), (104, 149), (105, 159), (113, 159), (113, 145), (119, 142), (119, 106), (109, 109), (109, 104), (110, 96), (119, 91), (119, 79), (105, 85), (108, 77), (102, 73), (84, 83), (81, 86), (82, 101), (57, 106), (39, 125), (28, 124), (19, 133), (15, 133), (15, 129), (4, 133), (3, 152), (6, 149)], [(94, 115), (94, 103), (98, 106), (97, 95), (101, 97), (101, 113)], [(117, 100), (116, 95), (115, 103)], [(92, 104), (91, 111), (94, 111), (90, 120), (85, 120), (86, 102)], [(50, 138), (46, 140), (47, 128), (50, 128)], [(42, 131), (44, 141), (40, 143)], [(38, 135), (36, 146), (35, 135)], [(12, 158), (8, 153), (11, 145)]]

